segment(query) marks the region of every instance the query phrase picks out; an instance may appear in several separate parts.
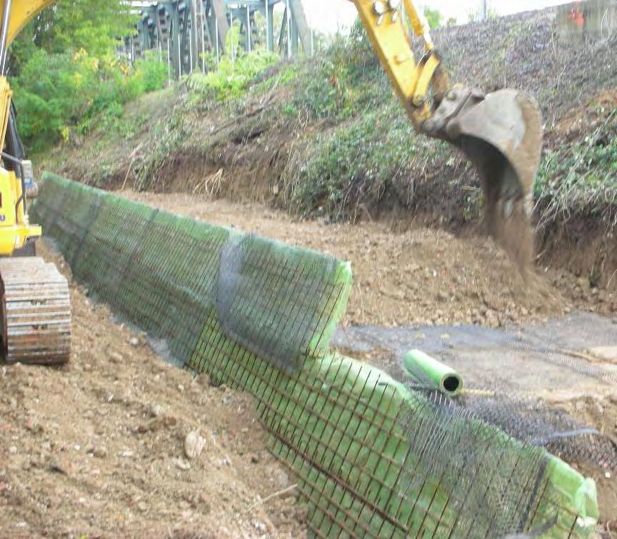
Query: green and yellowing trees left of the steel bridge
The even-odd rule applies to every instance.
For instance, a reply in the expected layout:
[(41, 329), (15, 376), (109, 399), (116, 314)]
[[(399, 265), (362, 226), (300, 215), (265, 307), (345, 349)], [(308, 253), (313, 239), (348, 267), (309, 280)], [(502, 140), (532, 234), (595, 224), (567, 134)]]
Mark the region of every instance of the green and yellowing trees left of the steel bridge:
[(26, 26), (9, 66), (26, 144), (49, 147), (86, 134), (94, 119), (110, 126), (127, 101), (164, 86), (162, 62), (116, 58), (117, 36), (131, 34), (133, 25), (122, 0), (61, 0)]

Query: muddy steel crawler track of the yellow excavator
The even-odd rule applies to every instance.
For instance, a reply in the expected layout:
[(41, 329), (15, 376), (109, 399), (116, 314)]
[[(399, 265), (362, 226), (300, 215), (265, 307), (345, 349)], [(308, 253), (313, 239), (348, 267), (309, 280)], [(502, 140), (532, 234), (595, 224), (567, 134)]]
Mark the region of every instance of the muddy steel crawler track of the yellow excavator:
[(61, 365), (71, 354), (69, 284), (42, 258), (0, 259), (6, 363)]

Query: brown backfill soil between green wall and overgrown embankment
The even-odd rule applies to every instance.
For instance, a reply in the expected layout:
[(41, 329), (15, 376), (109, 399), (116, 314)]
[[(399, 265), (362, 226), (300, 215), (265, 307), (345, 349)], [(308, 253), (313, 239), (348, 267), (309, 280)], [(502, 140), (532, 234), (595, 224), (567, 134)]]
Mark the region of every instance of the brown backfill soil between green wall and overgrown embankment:
[(492, 240), (433, 228), (393, 233), (388, 223), (297, 221), (256, 203), (186, 194), (122, 191), (122, 196), (209, 223), (233, 226), (351, 261), (347, 324), (375, 326), (474, 323), (498, 327), (573, 310), (617, 311), (617, 291), (586, 278), (537, 267), (527, 282)]

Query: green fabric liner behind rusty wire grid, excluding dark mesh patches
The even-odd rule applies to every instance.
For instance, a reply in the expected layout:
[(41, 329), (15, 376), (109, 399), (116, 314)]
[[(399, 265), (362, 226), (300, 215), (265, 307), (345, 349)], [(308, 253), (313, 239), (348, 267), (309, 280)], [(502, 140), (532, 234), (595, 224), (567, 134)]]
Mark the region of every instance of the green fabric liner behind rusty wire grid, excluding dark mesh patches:
[[(324, 296), (327, 321), (311, 338), (301, 370), (288, 372), (226, 336), (216, 318), (211, 298), (219, 253), (236, 231), (50, 173), (33, 206), (35, 220), (97, 298), (166, 339), (185, 368), (255, 396), (271, 450), (298, 475), (311, 536), (491, 537), (491, 523), (481, 515), (457, 514), (438, 478), (424, 477), (415, 491), (401, 490), (403, 468), (413, 470), (415, 457), (398, 419), (403, 412), (421, 413), (426, 399), (378, 368), (328, 350), (351, 289), (348, 263), (337, 261), (323, 273), (336, 298)], [(279, 258), (323, 258), (259, 242)], [(501, 430), (477, 423), (496, 447), (522, 451)], [(557, 524), (542, 537), (591, 537), (598, 518), (593, 480), (547, 456), (525, 530), (541, 528), (556, 515)], [(422, 476), (422, 470), (413, 473)], [(516, 480), (516, 470), (511, 475)]]

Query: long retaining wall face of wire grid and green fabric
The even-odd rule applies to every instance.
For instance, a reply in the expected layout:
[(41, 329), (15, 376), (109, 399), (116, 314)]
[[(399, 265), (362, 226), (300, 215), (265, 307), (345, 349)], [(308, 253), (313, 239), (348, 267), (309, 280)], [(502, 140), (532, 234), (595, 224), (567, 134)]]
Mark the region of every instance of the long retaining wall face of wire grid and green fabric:
[(551, 524), (543, 537), (593, 535), (593, 482), (329, 351), (348, 263), (44, 180), (31, 218), (76, 279), (185, 368), (255, 396), (312, 535), (492, 539)]

